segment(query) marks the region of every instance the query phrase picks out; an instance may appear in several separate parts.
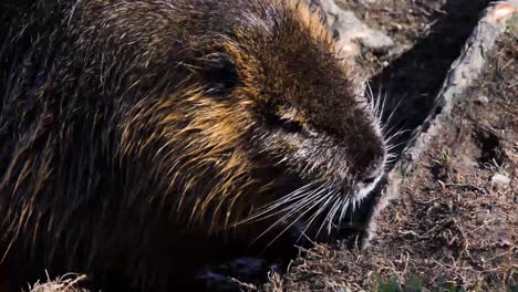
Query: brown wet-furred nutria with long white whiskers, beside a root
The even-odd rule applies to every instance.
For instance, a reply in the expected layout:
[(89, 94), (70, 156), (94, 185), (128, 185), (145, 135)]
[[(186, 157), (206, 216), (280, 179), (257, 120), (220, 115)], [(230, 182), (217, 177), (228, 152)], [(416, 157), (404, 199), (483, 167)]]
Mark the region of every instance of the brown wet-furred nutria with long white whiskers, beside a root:
[[(46, 270), (166, 289), (190, 269), (185, 253), (205, 252), (199, 238), (273, 240), (296, 222), (329, 232), (384, 173), (375, 106), (302, 4), (3, 6), (0, 260), (12, 285)], [(185, 239), (197, 244), (178, 251)]]

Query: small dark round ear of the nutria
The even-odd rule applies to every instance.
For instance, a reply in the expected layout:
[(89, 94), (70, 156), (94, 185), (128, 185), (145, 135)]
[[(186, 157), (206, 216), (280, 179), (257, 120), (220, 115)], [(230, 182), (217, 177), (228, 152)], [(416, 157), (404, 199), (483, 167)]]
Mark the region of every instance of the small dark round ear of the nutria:
[(201, 58), (201, 71), (208, 92), (214, 94), (229, 93), (239, 83), (236, 63), (226, 53), (210, 53)]

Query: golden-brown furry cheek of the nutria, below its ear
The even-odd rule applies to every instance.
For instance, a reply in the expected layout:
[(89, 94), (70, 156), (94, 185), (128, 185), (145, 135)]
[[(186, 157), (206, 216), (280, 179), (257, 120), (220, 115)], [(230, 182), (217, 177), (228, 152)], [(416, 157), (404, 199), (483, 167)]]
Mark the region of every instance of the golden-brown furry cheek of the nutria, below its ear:
[(247, 196), (262, 195), (269, 182), (250, 175), (250, 121), (244, 103), (186, 90), (128, 115), (121, 144), (124, 157), (149, 161), (145, 167), (157, 179), (151, 184), (172, 200), (175, 213), (225, 229), (258, 202)]

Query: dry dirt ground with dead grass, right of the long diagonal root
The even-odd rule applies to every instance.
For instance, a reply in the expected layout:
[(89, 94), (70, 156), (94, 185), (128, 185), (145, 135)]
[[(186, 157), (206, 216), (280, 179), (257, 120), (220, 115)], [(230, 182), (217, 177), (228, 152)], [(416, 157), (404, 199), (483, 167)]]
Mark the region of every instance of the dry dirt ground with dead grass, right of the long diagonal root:
[(487, 58), (371, 246), (318, 244), (266, 291), (518, 291), (518, 20)]

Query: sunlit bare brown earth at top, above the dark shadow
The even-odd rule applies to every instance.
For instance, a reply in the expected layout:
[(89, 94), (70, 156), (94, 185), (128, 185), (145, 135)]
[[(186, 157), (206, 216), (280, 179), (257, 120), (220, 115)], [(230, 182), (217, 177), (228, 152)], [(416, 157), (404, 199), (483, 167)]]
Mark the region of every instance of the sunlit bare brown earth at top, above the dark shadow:
[[(469, 22), (469, 15), (472, 18), (477, 17), (476, 13), (474, 15), (473, 11), (480, 6), (487, 4), (485, 0), (470, 0), (469, 3), (464, 0), (377, 0), (373, 3), (356, 0), (335, 0), (335, 2), (343, 9), (354, 11), (362, 21), (373, 29), (385, 32), (395, 43), (388, 51), (364, 50), (362, 52), (356, 62), (367, 75), (379, 73), (412, 46), (418, 45), (425, 38), (444, 38), (449, 34), (447, 38), (454, 39), (455, 30), (449, 30), (447, 34), (444, 34), (441, 33), (442, 28), (436, 28), (437, 24), (443, 27), (452, 24), (452, 22), (444, 21), (452, 14), (448, 10), (453, 10), (457, 14), (465, 13), (467, 15), (465, 21)], [(448, 2), (458, 3), (447, 4)], [(443, 23), (446, 23), (446, 25)], [(455, 27), (459, 30), (456, 33), (463, 33), (463, 29), (458, 23)], [(432, 31), (434, 31), (435, 35), (431, 35)], [(428, 41), (428, 43), (434, 42), (437, 43), (436, 40)], [(453, 42), (455, 41), (452, 40)], [(447, 52), (446, 49), (437, 53), (444, 55)], [(431, 51), (431, 58), (433, 58), (433, 53)], [(447, 62), (447, 59), (444, 61)]]

